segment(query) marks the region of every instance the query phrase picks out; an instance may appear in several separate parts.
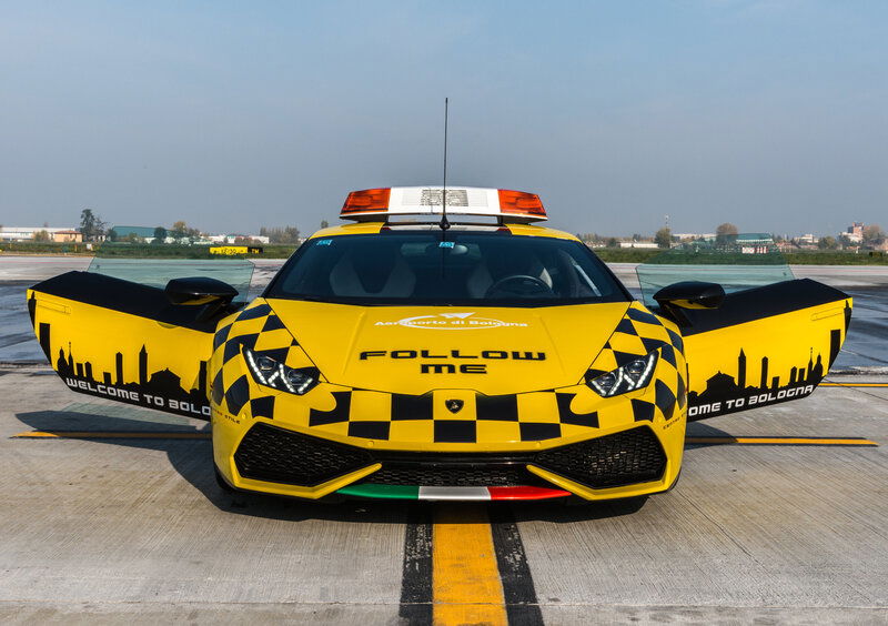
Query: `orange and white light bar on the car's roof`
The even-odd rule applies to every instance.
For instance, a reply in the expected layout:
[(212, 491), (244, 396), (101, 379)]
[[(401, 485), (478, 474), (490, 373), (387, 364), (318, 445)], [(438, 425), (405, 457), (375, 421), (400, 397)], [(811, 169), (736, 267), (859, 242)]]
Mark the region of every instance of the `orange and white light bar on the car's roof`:
[[(537, 222), (546, 219), (535, 193), (506, 189), (447, 188), (447, 215), (493, 216), (506, 222)], [(442, 186), (393, 186), (353, 191), (342, 205), (344, 220), (380, 220), (393, 215), (440, 216)]]

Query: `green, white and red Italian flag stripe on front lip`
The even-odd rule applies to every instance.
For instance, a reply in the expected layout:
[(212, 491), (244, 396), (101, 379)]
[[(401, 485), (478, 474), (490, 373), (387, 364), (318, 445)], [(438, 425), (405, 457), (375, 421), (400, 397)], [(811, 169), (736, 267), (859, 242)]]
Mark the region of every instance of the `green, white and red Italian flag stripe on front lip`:
[(565, 497), (571, 492), (547, 487), (423, 487), (408, 485), (349, 485), (336, 493), (354, 497), (389, 499), (547, 499)]

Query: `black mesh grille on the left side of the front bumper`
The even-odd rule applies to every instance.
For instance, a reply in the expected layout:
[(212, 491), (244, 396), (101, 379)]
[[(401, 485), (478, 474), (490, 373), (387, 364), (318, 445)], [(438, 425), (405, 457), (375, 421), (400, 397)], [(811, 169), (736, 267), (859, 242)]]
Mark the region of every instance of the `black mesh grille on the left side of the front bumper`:
[(356, 447), (259, 423), (244, 435), (234, 463), (244, 478), (313, 487), (373, 460)]

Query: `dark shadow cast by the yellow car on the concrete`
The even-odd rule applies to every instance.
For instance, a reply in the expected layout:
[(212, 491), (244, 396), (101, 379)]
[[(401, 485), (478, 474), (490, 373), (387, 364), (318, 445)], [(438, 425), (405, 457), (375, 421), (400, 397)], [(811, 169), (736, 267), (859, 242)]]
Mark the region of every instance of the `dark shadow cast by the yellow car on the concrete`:
[[(119, 414), (124, 414), (120, 410)], [(189, 484), (198, 489), (211, 504), (222, 512), (272, 519), (301, 522), (329, 519), (336, 522), (410, 524), (431, 518), (435, 506), (462, 506), (464, 503), (420, 503), (416, 501), (350, 499), (329, 496), (319, 502), (301, 501), (283, 496), (223, 491), (215, 481), (212, 462), (212, 445), (209, 438), (175, 438), (176, 435), (209, 436), (210, 425), (163, 415), (164, 421), (150, 421), (155, 414), (144, 412), (148, 417), (130, 418), (122, 415), (101, 415), (83, 411), (36, 411), (16, 416), (34, 431), (49, 433), (157, 433), (157, 438), (88, 437), (104, 445), (155, 450), (167, 454), (170, 465)], [(695, 436), (730, 436), (710, 426), (693, 424)], [(170, 436), (162, 436), (170, 434)], [(79, 437), (80, 438), (80, 437)], [(84, 437), (85, 438), (85, 437)], [(700, 446), (694, 446), (700, 447)], [(514, 516), (516, 522), (543, 521), (572, 523), (632, 515), (645, 505), (646, 497), (634, 497), (608, 502), (586, 502), (577, 497), (538, 502), (485, 503), (491, 517)], [(475, 504), (466, 504), (476, 506)]]

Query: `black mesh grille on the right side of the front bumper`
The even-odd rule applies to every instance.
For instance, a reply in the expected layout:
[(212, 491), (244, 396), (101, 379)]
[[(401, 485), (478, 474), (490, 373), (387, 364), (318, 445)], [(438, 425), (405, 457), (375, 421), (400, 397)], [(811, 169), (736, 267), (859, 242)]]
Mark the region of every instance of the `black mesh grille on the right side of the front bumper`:
[(663, 476), (666, 454), (647, 426), (541, 452), (536, 463), (593, 488), (647, 483)]

